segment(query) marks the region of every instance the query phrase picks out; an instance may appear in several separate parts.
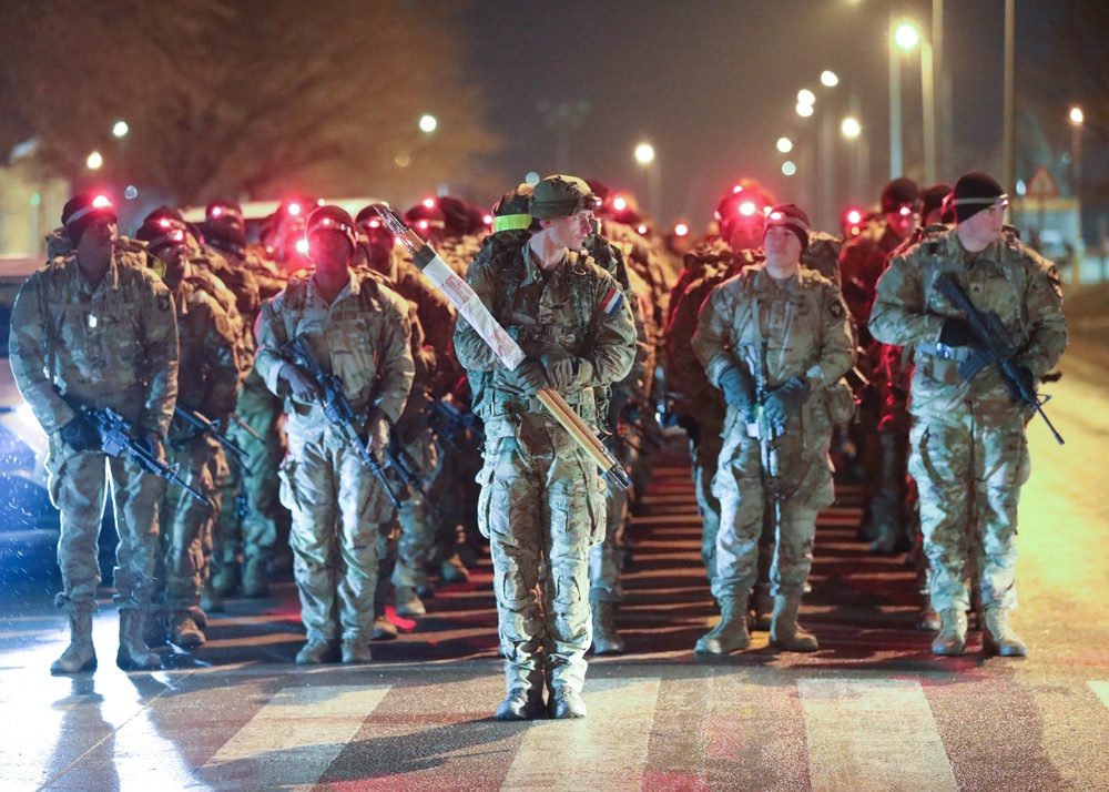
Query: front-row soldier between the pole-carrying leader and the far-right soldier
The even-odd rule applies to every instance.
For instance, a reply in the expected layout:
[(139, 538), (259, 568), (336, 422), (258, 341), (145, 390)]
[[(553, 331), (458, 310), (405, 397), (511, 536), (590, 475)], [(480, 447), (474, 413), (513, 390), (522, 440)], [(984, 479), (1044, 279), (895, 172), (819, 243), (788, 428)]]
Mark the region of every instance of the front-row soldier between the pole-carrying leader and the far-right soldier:
[(842, 377), (854, 356), (840, 291), (801, 266), (808, 234), (800, 207), (774, 206), (766, 215), (765, 263), (713, 290), (693, 337), (693, 351), (728, 403), (712, 481), (721, 504), (712, 578), (721, 620), (698, 641), (698, 652), (726, 654), (750, 642), (746, 607), (764, 509), (773, 510), (776, 528), (771, 642), (785, 651), (818, 646), (797, 625), (797, 610), (816, 515), (833, 501), (828, 448), (844, 397), (851, 400)]

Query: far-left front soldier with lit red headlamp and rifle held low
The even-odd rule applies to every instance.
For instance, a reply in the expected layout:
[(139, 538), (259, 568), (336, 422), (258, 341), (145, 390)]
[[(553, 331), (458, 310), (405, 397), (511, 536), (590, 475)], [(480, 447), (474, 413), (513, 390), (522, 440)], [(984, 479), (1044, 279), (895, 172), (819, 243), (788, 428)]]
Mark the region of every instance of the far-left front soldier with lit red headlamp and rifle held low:
[(70, 644), (51, 673), (96, 668), (96, 538), (109, 476), (120, 535), (115, 662), (123, 669), (161, 666), (142, 631), (157, 552), (157, 501), (165, 483), (130, 459), (108, 457), (96, 428), (74, 407), (116, 410), (134, 426), (134, 439), (161, 457), (177, 395), (173, 297), (146, 268), (141, 247), (116, 245), (116, 222), (104, 196), (71, 199), (62, 224), (75, 252), (31, 275), (12, 308), (11, 367), (20, 393), (49, 435), (50, 497), (61, 511), (58, 563), (64, 590), (55, 602), (69, 613)]

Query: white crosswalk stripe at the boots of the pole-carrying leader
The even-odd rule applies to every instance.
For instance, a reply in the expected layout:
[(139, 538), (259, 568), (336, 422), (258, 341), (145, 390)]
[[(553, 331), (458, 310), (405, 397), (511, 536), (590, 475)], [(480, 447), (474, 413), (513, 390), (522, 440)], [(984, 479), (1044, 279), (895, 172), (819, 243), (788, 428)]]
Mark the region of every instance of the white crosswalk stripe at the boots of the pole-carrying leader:
[(584, 720), (535, 722), (502, 790), (639, 790), (658, 679), (590, 680)]

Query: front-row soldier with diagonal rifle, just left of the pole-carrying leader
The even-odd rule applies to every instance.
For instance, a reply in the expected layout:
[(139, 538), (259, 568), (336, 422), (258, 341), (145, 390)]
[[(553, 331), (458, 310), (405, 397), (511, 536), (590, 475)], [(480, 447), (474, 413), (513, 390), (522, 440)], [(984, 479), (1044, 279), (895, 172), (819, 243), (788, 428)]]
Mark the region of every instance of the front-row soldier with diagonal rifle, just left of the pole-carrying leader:
[[(296, 661), (333, 660), (342, 637), (343, 662), (360, 663), (372, 659), (377, 542), (393, 510), (354, 445), (384, 454), (408, 398), (408, 305), (373, 275), (350, 272), (357, 237), (342, 209), (315, 210), (306, 233), (316, 271), (263, 305), (255, 365), (285, 398), (288, 454), (281, 498), (293, 512), (293, 571), (307, 630)], [(324, 372), (339, 378), (359, 437), (345, 436), (345, 427), (328, 420), (321, 384), (285, 352), (301, 337)]]

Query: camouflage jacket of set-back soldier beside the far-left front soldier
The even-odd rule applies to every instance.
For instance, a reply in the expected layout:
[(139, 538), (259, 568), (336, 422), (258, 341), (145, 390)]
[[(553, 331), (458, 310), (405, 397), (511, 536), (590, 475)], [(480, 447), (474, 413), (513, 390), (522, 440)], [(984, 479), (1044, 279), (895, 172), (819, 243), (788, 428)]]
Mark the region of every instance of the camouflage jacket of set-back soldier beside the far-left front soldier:
[(238, 388), (238, 338), (227, 313), (190, 278), (173, 292), (177, 314), (181, 377), (177, 404), (211, 420), (235, 409)]

